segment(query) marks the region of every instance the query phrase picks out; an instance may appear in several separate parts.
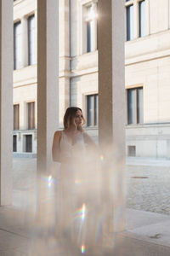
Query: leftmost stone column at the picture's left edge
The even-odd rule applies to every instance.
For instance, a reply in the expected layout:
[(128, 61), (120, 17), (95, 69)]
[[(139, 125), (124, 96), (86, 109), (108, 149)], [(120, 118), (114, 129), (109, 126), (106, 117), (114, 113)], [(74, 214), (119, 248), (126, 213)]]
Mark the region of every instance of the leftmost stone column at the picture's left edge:
[(0, 205), (12, 203), (13, 1), (0, 0)]

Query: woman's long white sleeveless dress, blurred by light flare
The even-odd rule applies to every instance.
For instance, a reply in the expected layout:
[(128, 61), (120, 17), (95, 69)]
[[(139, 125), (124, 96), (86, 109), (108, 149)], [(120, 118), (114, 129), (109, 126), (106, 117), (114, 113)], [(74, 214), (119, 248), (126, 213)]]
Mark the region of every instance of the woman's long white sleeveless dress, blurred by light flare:
[[(88, 156), (83, 132), (77, 135), (76, 142), (71, 145), (65, 131), (62, 131), (60, 152), (60, 221), (62, 229), (69, 231), (76, 246), (81, 248), (89, 240), (95, 240), (94, 219), (97, 216), (93, 204), (99, 201), (99, 189), (96, 189), (96, 177), (92, 173), (94, 166)], [(99, 184), (97, 186), (99, 188)]]

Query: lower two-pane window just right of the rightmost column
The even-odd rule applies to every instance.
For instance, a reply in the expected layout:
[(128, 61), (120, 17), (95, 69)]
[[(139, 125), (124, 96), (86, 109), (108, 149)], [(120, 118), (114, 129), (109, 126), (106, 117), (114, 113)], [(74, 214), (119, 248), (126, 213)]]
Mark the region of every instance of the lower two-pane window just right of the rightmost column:
[(143, 115), (143, 88), (127, 89), (127, 124), (142, 124)]

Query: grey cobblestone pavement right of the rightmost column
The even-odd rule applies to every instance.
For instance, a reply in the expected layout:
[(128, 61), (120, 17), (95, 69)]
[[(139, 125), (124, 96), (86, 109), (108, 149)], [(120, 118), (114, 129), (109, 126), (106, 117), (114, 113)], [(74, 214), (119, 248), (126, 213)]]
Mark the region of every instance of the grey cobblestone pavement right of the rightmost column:
[(127, 166), (127, 207), (170, 215), (170, 166)]

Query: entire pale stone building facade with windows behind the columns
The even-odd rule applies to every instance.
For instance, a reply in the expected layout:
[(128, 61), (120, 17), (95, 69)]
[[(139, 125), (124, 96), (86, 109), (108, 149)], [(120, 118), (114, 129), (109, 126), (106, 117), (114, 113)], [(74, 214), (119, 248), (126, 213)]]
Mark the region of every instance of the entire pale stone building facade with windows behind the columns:
[[(59, 0), (59, 124), (65, 108), (78, 106), (96, 141), (97, 5)], [(124, 11), (127, 155), (170, 158), (169, 0), (127, 0)], [(14, 154), (36, 153), (37, 1), (15, 0)]]

